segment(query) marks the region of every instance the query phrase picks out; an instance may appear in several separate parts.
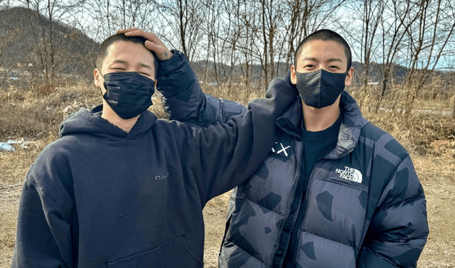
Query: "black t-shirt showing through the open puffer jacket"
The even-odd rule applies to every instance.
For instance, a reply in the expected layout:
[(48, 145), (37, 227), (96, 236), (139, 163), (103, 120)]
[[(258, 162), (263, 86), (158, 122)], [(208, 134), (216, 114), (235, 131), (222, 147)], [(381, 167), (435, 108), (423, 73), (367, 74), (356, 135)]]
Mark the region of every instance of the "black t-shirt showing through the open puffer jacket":
[[(341, 111), (343, 114), (343, 111)], [(300, 176), (300, 180), (303, 181), (303, 193), (301, 197), (301, 205), (299, 209), (299, 215), (297, 216), (296, 225), (294, 230), (292, 230), (291, 240), (289, 241), (289, 247), (287, 250), (286, 257), (284, 258), (283, 268), (294, 268), (295, 264), (294, 260), (294, 253), (298, 250), (297, 242), (298, 242), (298, 233), (301, 227), (302, 222), (304, 221), (304, 213), (305, 213), (305, 203), (304, 200), (306, 198), (306, 188), (308, 188), (309, 178), (311, 176), (311, 172), (313, 171), (314, 165), (319, 159), (322, 159), (326, 156), (330, 151), (332, 151), (336, 146), (336, 141), (338, 140), (338, 132), (341, 126), (342, 115), (338, 117), (336, 122), (324, 129), (320, 132), (309, 132), (305, 129), (304, 123), (302, 120), (301, 129), (302, 129), (302, 140), (304, 143), (304, 161), (302, 164), (304, 165), (301, 168), (302, 173), (305, 176)], [(300, 182), (301, 183), (301, 182)]]

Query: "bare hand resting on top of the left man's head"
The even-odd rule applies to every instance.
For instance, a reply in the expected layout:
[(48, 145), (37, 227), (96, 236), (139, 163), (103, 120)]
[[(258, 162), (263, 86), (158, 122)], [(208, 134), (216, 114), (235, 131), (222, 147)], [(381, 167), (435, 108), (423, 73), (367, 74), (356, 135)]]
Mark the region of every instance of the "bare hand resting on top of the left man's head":
[(172, 53), (166, 45), (154, 34), (139, 30), (138, 28), (129, 28), (118, 30), (116, 33), (124, 33), (125, 36), (142, 36), (147, 39), (145, 47), (153, 51), (158, 60), (168, 60), (172, 57)]

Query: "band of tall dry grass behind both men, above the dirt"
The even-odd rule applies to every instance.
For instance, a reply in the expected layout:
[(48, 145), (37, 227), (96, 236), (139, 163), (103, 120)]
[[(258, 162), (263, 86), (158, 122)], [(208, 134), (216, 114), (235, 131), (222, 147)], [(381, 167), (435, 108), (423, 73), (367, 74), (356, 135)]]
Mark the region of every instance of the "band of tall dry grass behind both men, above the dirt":
[[(66, 115), (76, 112), (80, 107), (90, 108), (101, 103), (100, 90), (93, 85), (78, 83), (72, 86), (60, 85), (52, 90), (42, 88), (43, 86), (32, 90), (0, 90), (0, 139), (46, 139), (57, 133), (58, 125)], [(242, 104), (262, 97), (265, 92), (265, 89), (238, 86), (207, 86), (204, 90), (215, 97)], [(378, 92), (371, 88), (350, 89), (351, 95), (358, 100), (363, 115), (390, 132), (408, 150), (418, 154), (439, 154), (434, 141), (455, 140), (455, 117), (450, 115), (455, 107), (455, 95), (452, 93), (447, 97), (446, 94), (426, 94), (411, 100), (409, 96), (416, 95), (415, 91), (412, 87), (408, 90), (394, 88), (378, 102)], [(166, 114), (158, 92), (155, 97), (150, 109), (158, 117), (164, 118)], [(444, 111), (446, 116), (431, 111)]]

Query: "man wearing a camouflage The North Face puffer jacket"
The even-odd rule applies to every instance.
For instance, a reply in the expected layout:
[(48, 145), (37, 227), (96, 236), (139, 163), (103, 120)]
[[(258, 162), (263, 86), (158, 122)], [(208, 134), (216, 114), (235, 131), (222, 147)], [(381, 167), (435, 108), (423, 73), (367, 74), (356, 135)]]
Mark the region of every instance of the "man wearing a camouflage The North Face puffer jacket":
[[(168, 60), (169, 73), (191, 71)], [(220, 267), (416, 267), (428, 235), (422, 185), (407, 151), (362, 117), (344, 87), (348, 43), (320, 30), (299, 44), (284, 78), (300, 97), (277, 120), (284, 131), (230, 199)], [(235, 102), (176, 92), (159, 81), (171, 119), (220, 124)]]

